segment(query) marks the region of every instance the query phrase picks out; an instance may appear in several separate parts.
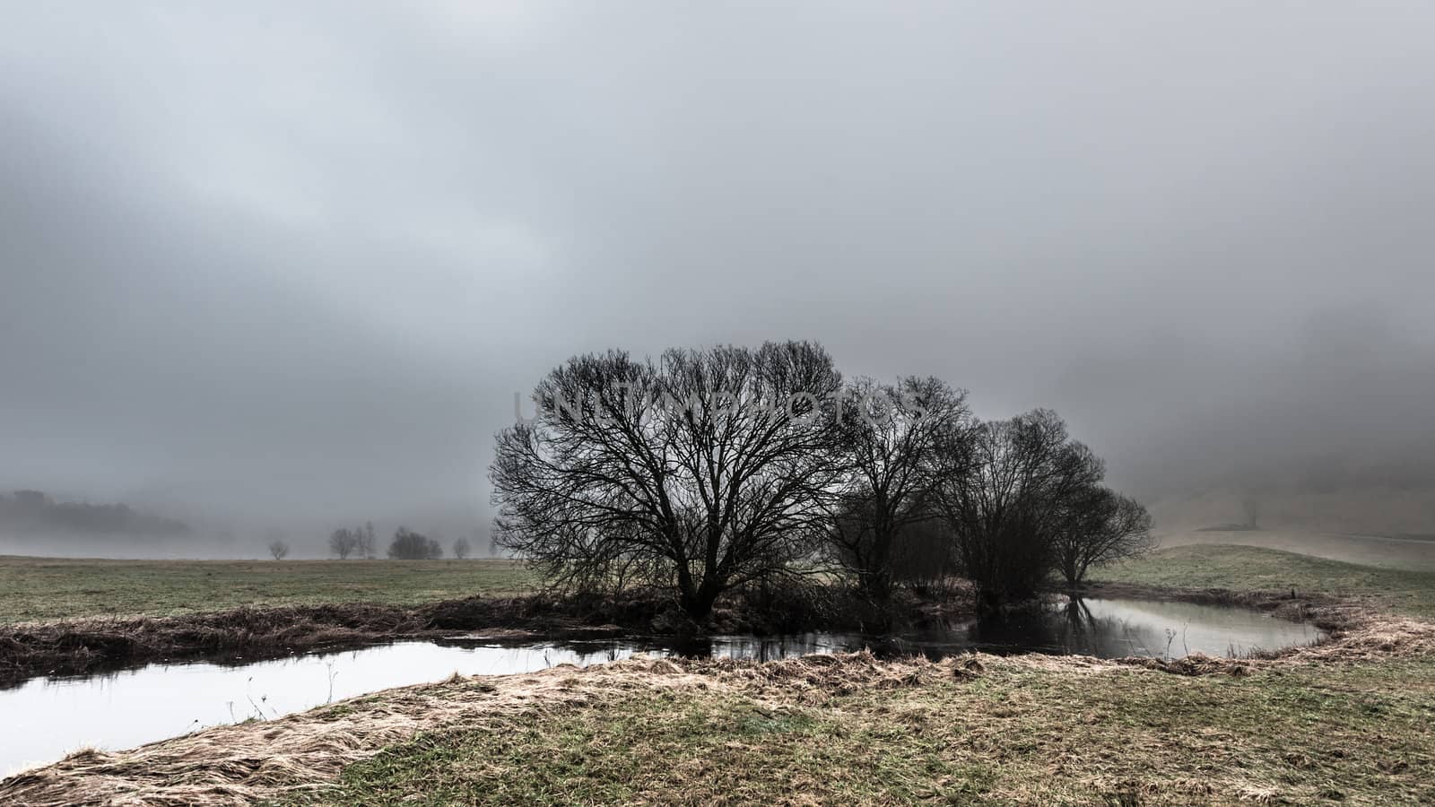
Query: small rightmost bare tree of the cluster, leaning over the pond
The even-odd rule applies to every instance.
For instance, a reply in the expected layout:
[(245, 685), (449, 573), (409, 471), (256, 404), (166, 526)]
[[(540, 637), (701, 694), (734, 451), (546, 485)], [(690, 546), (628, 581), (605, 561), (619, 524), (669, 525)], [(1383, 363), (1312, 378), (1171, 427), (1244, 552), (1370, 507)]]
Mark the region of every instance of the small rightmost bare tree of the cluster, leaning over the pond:
[(1078, 490), (1063, 505), (1052, 536), (1052, 560), (1072, 589), (1093, 566), (1132, 557), (1152, 547), (1151, 516), (1135, 500), (1109, 488)]

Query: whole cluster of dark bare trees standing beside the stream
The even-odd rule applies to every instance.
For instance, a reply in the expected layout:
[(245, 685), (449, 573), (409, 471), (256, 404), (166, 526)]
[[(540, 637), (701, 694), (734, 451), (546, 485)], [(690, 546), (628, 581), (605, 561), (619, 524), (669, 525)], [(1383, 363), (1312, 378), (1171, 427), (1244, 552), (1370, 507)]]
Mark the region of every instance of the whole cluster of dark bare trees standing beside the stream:
[(498, 435), (497, 543), (560, 584), (669, 587), (695, 619), (831, 570), (875, 600), (957, 573), (999, 603), (1148, 541), (1053, 412), (980, 422), (940, 379), (844, 382), (809, 342), (575, 356), (534, 401)]

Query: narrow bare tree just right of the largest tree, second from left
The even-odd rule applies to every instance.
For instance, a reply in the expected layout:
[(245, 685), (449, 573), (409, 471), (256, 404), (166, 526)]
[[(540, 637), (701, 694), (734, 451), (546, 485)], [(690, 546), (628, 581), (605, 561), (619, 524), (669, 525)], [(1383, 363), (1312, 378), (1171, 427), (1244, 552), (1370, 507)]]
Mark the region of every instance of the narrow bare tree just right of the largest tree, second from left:
[(891, 594), (900, 537), (937, 517), (941, 449), (973, 428), (966, 393), (936, 378), (854, 381), (838, 431), (847, 478), (828, 531), (835, 560), (875, 600)]

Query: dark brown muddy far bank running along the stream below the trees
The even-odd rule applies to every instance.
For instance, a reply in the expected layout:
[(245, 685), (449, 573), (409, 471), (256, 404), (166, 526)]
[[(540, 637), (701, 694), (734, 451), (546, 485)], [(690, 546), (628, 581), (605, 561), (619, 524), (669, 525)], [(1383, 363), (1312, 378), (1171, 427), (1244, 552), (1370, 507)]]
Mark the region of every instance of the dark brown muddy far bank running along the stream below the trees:
[(611, 596), (469, 597), (402, 607), (372, 603), (240, 607), (166, 617), (83, 619), (0, 628), (0, 688), (42, 675), (113, 672), (151, 662), (253, 662), (396, 639), (588, 639), (640, 633), (880, 630), (963, 616), (963, 606), (901, 599), (875, 613), (839, 592), (728, 597), (705, 626), (670, 599)]

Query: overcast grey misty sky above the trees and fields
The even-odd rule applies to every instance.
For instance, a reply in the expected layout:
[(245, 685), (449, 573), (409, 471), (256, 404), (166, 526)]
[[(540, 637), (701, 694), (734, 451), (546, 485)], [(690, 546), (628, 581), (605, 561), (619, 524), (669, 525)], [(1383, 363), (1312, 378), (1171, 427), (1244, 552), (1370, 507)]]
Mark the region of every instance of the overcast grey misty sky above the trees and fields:
[(1138, 490), (1429, 468), (1425, 1), (4, 19), (4, 487), (479, 513), (564, 358), (786, 337)]

